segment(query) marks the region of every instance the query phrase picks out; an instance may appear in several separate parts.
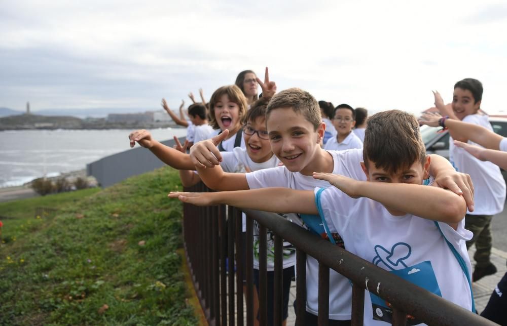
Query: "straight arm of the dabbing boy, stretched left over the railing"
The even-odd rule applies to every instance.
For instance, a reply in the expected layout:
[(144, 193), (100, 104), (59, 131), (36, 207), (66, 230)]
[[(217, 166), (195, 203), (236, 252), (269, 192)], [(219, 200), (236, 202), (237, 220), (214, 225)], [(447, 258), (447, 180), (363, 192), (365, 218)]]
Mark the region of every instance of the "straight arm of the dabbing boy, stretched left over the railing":
[(168, 197), (197, 206), (226, 204), (274, 213), (318, 214), (312, 190), (273, 187), (220, 192), (171, 192)]

